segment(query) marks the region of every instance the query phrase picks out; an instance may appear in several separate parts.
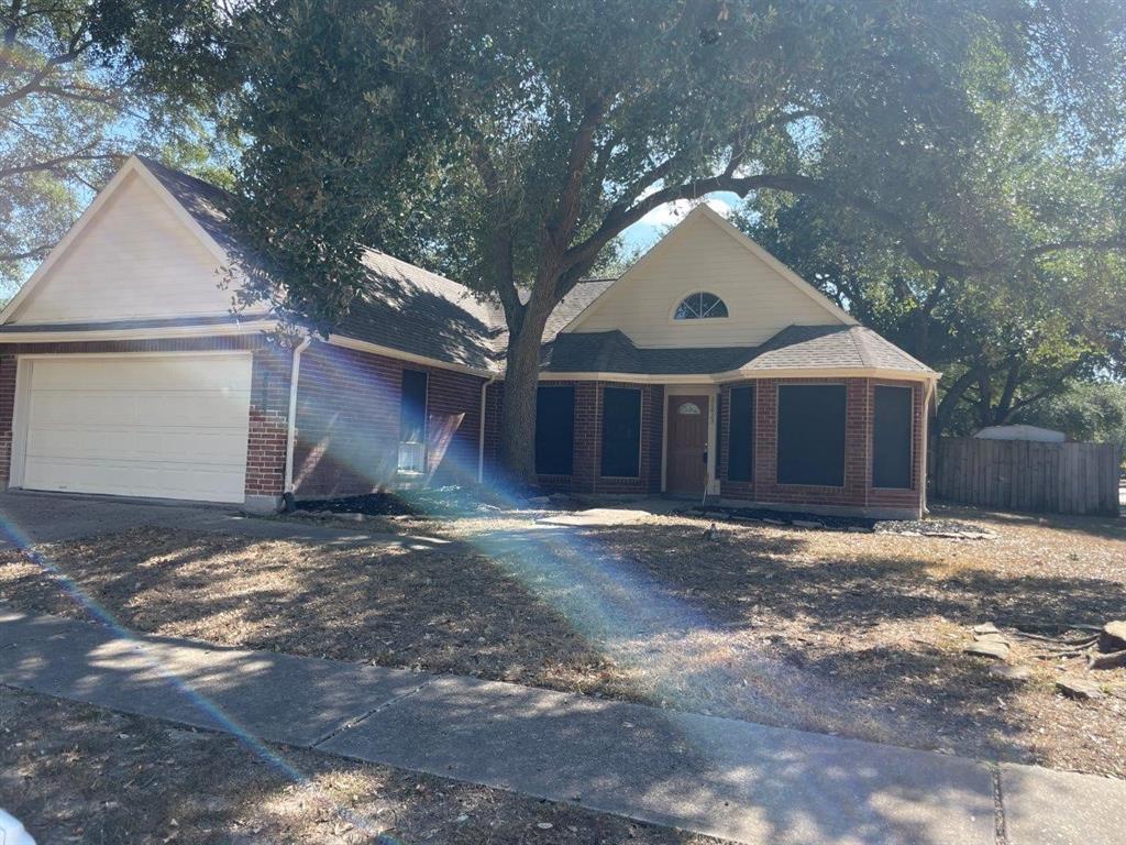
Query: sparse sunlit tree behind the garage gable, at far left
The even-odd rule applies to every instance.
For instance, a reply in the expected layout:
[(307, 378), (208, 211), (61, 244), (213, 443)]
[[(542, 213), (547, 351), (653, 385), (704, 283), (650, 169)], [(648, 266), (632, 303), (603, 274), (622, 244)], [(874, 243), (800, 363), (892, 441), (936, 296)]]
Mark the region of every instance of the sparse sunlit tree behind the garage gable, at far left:
[(125, 10), (106, 0), (0, 5), (0, 290), (8, 294), (124, 155), (159, 152), (205, 171), (211, 163), (207, 127), (187, 101), (173, 106), (135, 84), (120, 50)]

